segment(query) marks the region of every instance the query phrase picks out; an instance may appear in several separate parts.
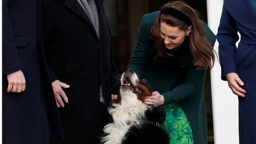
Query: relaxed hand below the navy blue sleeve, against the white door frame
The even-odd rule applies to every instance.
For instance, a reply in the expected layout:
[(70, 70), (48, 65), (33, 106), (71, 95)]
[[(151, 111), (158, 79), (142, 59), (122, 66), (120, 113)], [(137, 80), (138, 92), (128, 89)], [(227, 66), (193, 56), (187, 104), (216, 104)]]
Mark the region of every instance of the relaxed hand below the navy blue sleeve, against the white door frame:
[(244, 93), (246, 93), (246, 91), (240, 87), (240, 86), (243, 86), (244, 83), (239, 78), (237, 73), (231, 72), (231, 73), (225, 74), (225, 76), (226, 76), (227, 81), (228, 81), (228, 86), (231, 88), (232, 92), (235, 95), (238, 95), (239, 97), (244, 98), (245, 97)]

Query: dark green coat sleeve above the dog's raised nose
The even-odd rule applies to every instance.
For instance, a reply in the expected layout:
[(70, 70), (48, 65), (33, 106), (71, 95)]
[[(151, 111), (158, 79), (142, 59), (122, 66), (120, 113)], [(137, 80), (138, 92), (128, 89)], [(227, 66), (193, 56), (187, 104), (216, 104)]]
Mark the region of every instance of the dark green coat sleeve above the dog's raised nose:
[(145, 29), (145, 15), (142, 17), (138, 30), (137, 41), (128, 68), (131, 68), (139, 78), (144, 78), (144, 66), (147, 63), (148, 49), (150, 48), (150, 34)]

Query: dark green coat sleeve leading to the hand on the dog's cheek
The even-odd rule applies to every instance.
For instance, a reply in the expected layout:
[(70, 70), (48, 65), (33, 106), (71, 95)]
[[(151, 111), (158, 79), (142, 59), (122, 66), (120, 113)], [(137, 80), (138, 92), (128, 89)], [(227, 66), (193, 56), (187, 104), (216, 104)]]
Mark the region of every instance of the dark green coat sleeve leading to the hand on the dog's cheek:
[(196, 70), (196, 66), (192, 66), (183, 82), (176, 82), (170, 91), (163, 93), (164, 105), (172, 104), (185, 100), (194, 95), (205, 77), (205, 70)]

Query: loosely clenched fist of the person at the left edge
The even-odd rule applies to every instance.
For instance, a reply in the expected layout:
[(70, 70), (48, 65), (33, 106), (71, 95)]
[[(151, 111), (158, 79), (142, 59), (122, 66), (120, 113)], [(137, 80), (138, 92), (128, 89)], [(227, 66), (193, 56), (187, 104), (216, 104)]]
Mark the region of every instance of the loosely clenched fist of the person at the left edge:
[(7, 74), (8, 88), (7, 92), (20, 93), (25, 90), (26, 81), (21, 70)]

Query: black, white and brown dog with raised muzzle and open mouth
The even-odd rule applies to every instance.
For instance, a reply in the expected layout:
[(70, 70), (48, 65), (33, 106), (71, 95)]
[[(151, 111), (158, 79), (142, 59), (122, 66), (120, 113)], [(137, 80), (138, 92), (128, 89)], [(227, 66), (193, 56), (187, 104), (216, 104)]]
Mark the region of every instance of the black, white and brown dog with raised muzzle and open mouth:
[(167, 144), (169, 135), (158, 125), (165, 121), (162, 105), (144, 103), (155, 88), (145, 79), (138, 79), (133, 70), (127, 69), (121, 77), (120, 93), (108, 109), (113, 122), (107, 124), (101, 142), (105, 144)]

